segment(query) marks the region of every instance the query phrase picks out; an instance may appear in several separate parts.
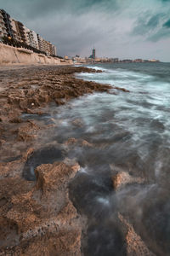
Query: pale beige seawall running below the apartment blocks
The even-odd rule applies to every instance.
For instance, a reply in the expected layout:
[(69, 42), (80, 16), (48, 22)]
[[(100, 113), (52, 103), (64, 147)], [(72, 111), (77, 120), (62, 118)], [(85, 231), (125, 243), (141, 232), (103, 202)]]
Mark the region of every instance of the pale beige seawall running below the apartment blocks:
[(59, 58), (37, 54), (30, 49), (16, 48), (0, 44), (0, 65), (7, 64), (56, 64), (69, 65), (72, 61), (60, 61)]

